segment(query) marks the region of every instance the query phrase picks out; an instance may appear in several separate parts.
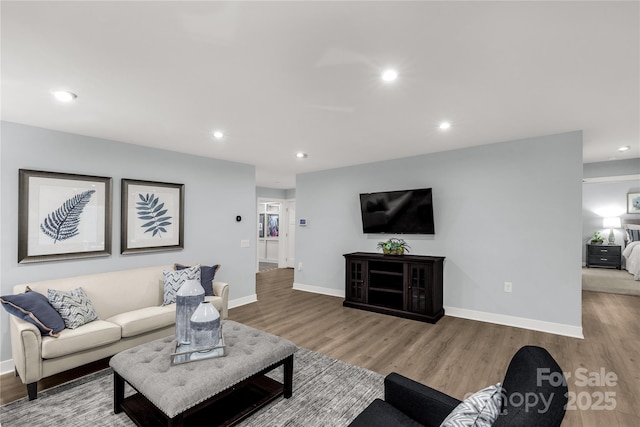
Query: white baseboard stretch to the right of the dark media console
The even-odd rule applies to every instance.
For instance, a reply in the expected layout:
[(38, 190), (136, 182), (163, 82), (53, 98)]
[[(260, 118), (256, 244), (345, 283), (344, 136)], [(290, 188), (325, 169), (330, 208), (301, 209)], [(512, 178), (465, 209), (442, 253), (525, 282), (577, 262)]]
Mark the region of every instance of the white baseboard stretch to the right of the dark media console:
[(513, 326), (515, 328), (531, 329), (533, 331), (584, 339), (581, 326), (571, 326), (562, 323), (545, 322), (543, 320), (527, 319), (524, 317), (507, 316), (504, 314), (487, 313), (485, 311), (467, 310), (465, 308), (456, 307), (445, 307), (444, 312), (447, 316), (479, 320), (481, 322), (496, 323), (498, 325)]

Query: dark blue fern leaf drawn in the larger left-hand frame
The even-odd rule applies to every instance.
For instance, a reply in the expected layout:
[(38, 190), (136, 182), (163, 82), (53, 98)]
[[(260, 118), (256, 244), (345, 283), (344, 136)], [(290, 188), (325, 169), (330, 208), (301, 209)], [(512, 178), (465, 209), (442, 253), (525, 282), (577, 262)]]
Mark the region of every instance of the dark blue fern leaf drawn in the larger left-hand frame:
[(51, 212), (40, 224), (40, 230), (53, 239), (53, 243), (77, 236), (80, 215), (96, 190), (76, 194)]

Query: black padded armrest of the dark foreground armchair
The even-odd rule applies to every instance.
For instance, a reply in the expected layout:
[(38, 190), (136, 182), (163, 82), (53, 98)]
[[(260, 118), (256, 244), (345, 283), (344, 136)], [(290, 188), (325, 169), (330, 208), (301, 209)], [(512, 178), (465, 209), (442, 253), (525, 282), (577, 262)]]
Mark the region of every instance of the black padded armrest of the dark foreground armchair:
[(460, 401), (392, 372), (384, 379), (384, 400), (425, 426), (439, 426)]

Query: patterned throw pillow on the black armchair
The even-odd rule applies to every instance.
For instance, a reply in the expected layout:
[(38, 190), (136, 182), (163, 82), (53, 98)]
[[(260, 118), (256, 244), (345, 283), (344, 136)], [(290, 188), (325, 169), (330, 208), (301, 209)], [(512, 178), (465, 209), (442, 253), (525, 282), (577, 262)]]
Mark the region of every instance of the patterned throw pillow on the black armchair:
[(472, 394), (445, 418), (440, 427), (491, 427), (502, 408), (502, 385), (483, 388)]

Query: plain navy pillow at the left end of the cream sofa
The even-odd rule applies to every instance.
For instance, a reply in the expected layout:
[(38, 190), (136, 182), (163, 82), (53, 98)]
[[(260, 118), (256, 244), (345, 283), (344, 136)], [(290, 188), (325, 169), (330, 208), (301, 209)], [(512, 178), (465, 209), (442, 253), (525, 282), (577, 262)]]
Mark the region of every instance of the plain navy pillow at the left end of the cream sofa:
[(36, 325), (42, 335), (57, 338), (64, 329), (64, 320), (47, 297), (29, 287), (23, 294), (6, 295), (0, 301), (9, 314)]

